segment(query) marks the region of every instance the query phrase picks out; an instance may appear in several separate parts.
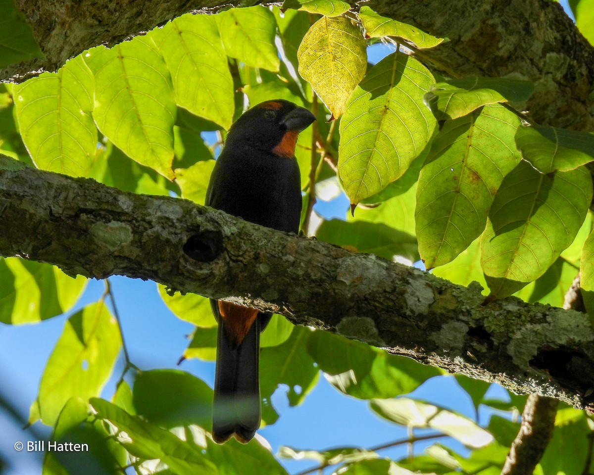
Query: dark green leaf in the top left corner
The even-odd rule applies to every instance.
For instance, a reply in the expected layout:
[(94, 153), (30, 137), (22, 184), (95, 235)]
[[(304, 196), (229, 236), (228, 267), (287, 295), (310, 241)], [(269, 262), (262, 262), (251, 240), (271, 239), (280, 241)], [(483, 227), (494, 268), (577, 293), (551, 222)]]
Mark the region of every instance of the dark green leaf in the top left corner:
[(26, 59), (45, 59), (33, 37), (33, 30), (14, 0), (0, 0), (0, 11), (0, 68)]

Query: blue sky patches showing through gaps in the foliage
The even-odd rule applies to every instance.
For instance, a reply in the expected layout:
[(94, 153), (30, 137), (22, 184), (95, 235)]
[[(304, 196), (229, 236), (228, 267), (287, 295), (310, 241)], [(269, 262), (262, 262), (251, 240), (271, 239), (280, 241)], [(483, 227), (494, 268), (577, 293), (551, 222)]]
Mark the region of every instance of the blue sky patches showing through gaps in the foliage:
[[(565, 11), (568, 11), (567, 1), (560, 3)], [(369, 49), (369, 59), (377, 62), (388, 52), (390, 51), (387, 47), (374, 45)], [(348, 207), (346, 197), (342, 196), (332, 202), (319, 202), (315, 209), (326, 218), (344, 218)], [(110, 281), (122, 317), (124, 338), (132, 362), (141, 369), (178, 368), (176, 362), (188, 344), (187, 335), (191, 333), (192, 325), (179, 320), (166, 308), (153, 282), (125, 277), (113, 277)], [(101, 281), (91, 280), (75, 310), (98, 300), (103, 290)], [(30, 404), (36, 398), (45, 362), (62, 332), (67, 316), (52, 318), (36, 325), (0, 325), (0, 391), (10, 398), (25, 419)], [(106, 398), (113, 394), (115, 381), (123, 365), (121, 357), (114, 376), (105, 388)], [(213, 385), (214, 363), (186, 360), (179, 368)], [(320, 382), (302, 406), (289, 407), (284, 392), (285, 388), (280, 388), (273, 397), (273, 404), (280, 414), (278, 422), (260, 431), (274, 452), (279, 445), (319, 450), (337, 445), (369, 448), (406, 437), (405, 429), (375, 416), (368, 410), (366, 401), (340, 394), (324, 378), (320, 378)], [(489, 389), (489, 395), (492, 397), (504, 397), (504, 394), (503, 389), (497, 388), (496, 385)], [(430, 379), (417, 389), (413, 396), (451, 408), (468, 417), (474, 416), (470, 398), (458, 387), (452, 376)], [(485, 424), (488, 417), (489, 412), (482, 410), (479, 422)], [(33, 436), (23, 432), (1, 412), (0, 427), (0, 453), (11, 463), (11, 470), (7, 473), (38, 473), (40, 457), (27, 452), (15, 452), (12, 448), (17, 441), (34, 440)], [(39, 423), (35, 427), (49, 433), (49, 428)], [(415, 450), (422, 451), (431, 443), (418, 442), (415, 444)], [(448, 445), (456, 450), (463, 450), (456, 442)], [(381, 453), (399, 458), (406, 455), (406, 447)], [(289, 473), (293, 474), (314, 465), (308, 461), (286, 461), (283, 464)]]

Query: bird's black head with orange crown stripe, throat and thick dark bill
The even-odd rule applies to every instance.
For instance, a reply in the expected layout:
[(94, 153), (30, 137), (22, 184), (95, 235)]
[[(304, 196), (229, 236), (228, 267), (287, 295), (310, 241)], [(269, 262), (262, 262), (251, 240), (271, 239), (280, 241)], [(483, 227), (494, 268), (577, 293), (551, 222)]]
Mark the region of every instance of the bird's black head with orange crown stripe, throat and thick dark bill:
[(274, 99), (244, 113), (231, 126), (226, 145), (243, 143), (282, 157), (295, 156), (297, 135), (315, 121), (315, 116), (292, 102)]

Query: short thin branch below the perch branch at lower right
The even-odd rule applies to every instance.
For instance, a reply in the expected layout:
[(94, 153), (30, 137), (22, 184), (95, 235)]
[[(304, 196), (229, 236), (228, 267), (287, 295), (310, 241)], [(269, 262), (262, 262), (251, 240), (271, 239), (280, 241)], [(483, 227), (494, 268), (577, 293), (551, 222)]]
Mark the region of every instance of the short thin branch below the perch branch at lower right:
[(501, 475), (532, 475), (555, 429), (559, 401), (530, 394), (522, 413), (522, 426), (505, 458)]

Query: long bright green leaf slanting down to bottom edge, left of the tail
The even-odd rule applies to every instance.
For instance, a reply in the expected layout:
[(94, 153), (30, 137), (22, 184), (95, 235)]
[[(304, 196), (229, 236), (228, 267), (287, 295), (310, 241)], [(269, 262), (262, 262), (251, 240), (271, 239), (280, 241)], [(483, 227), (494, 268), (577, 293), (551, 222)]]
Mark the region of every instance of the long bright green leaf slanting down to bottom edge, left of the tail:
[(204, 445), (189, 444), (171, 432), (130, 416), (118, 406), (92, 398), (91, 406), (99, 419), (115, 427), (115, 436), (130, 454), (144, 460), (160, 460), (176, 475), (219, 473), (214, 464), (202, 453)]

